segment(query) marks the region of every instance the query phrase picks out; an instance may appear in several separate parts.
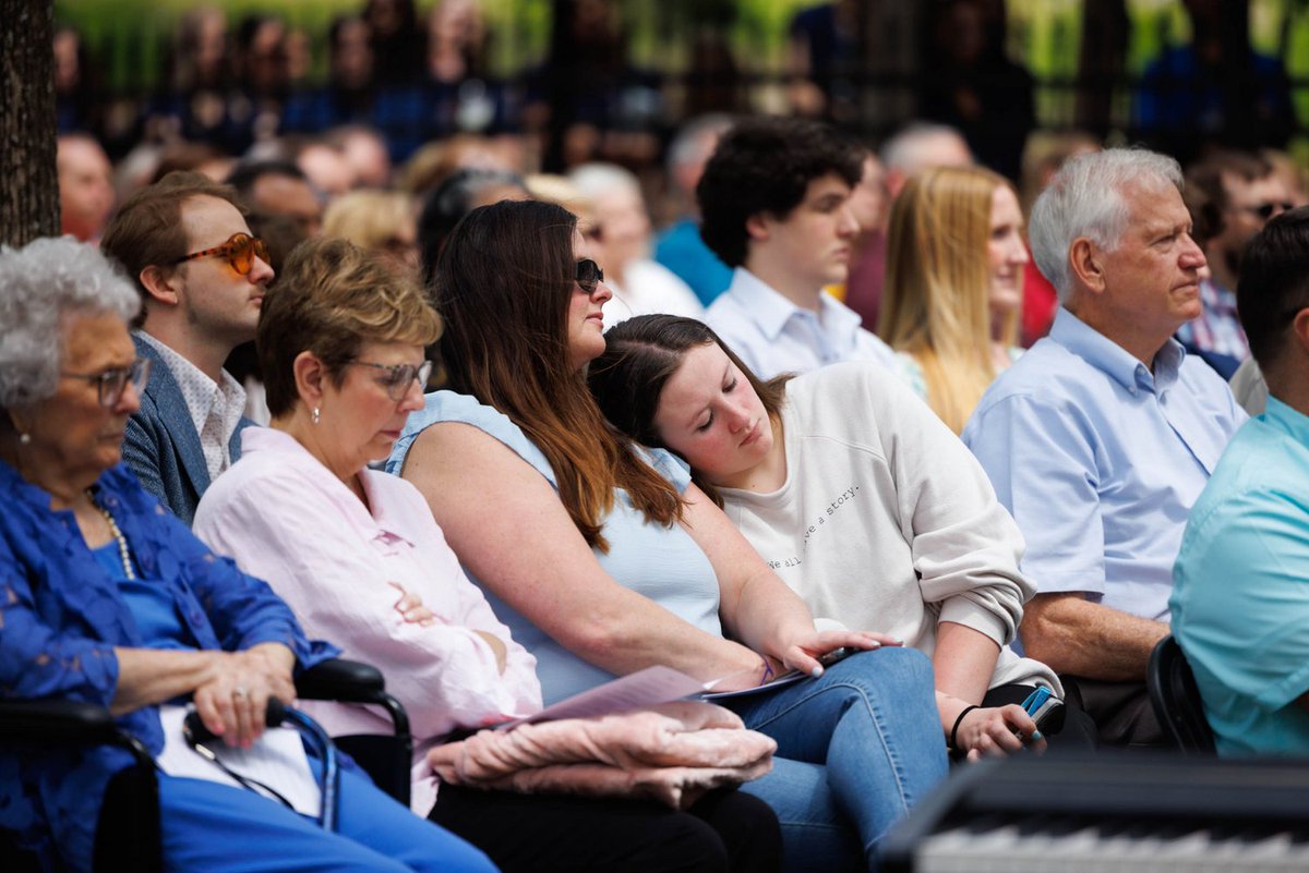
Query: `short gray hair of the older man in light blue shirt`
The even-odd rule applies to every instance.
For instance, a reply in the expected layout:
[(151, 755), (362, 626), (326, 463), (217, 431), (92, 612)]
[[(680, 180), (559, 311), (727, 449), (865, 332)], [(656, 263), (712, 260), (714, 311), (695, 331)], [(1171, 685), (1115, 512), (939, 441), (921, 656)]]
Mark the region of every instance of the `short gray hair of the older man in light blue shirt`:
[(1114, 251), (1127, 230), (1130, 204), (1123, 189), (1135, 186), (1182, 189), (1182, 167), (1147, 149), (1105, 149), (1071, 158), (1031, 208), (1028, 238), (1031, 256), (1066, 303), (1072, 294), (1068, 247), (1079, 237)]

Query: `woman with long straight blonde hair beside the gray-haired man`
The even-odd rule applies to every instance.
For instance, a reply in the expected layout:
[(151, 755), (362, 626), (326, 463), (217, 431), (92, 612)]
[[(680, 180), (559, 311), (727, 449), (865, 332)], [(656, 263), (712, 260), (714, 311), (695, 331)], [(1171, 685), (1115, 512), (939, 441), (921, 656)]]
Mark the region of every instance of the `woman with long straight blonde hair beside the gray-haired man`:
[(877, 333), (902, 379), (957, 434), (1021, 350), (1022, 212), (1013, 187), (980, 167), (910, 179), (891, 208)]

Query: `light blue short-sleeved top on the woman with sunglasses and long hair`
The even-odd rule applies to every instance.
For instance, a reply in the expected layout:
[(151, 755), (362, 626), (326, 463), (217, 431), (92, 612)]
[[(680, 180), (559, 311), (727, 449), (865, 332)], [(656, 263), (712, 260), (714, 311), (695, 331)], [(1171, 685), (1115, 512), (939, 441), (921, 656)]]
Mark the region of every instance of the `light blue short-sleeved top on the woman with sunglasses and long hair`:
[[(399, 476), (414, 439), (424, 429), (439, 422), (473, 425), (493, 436), (531, 464), (555, 491), (559, 490), (550, 461), (517, 425), (496, 409), (478, 403), (476, 399), (453, 391), (427, 395), (425, 406), (410, 416), (404, 433), (391, 450), (391, 456), (386, 460), (386, 472)], [(645, 450), (644, 456), (679, 493), (690, 485), (690, 472), (669, 452)], [(603, 533), (609, 541), (609, 554), (596, 552), (594, 555), (615, 582), (649, 597), (700, 630), (716, 636), (723, 635), (723, 626), (719, 623), (717, 576), (713, 575), (713, 567), (704, 552), (679, 524), (664, 528), (645, 521), (645, 518), (632, 507), (627, 493), (619, 490), (614, 495), (614, 510), (605, 519)], [(581, 660), (547, 636), (496, 597), (471, 572), (469, 579), (482, 588), (495, 614), (509, 626), (513, 638), (537, 656), (537, 674), (547, 706), (614, 678), (607, 670)]]

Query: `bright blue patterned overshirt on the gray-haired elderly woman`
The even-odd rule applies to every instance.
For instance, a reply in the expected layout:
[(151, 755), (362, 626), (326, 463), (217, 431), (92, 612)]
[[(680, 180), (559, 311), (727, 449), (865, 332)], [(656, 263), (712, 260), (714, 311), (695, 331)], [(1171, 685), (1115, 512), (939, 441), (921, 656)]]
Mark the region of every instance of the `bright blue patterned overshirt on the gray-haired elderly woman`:
[[(267, 584), (196, 540), (119, 464), (94, 486), (127, 538), (145, 582), (164, 587), (199, 648), (238, 651), (283, 643), (301, 667), (338, 651), (310, 643)], [(109, 706), (118, 686), (115, 646), (143, 647), (118, 585), (82, 540), (71, 511), (0, 461), (0, 699), (64, 698)], [(158, 754), (156, 707), (118, 724)], [(58, 847), (89, 869), (105, 787), (131, 763), (122, 749), (0, 749), (0, 827), (48, 861)]]

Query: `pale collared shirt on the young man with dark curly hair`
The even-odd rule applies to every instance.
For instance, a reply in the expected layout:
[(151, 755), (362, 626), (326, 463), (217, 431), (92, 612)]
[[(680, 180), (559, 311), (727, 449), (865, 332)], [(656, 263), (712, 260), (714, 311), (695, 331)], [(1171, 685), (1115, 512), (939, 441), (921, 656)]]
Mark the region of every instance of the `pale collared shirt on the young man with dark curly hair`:
[(826, 291), (818, 299), (817, 312), (801, 308), (737, 267), (732, 286), (713, 301), (704, 320), (761, 379), (838, 361), (894, 365), (890, 346), (860, 327), (857, 312)]

